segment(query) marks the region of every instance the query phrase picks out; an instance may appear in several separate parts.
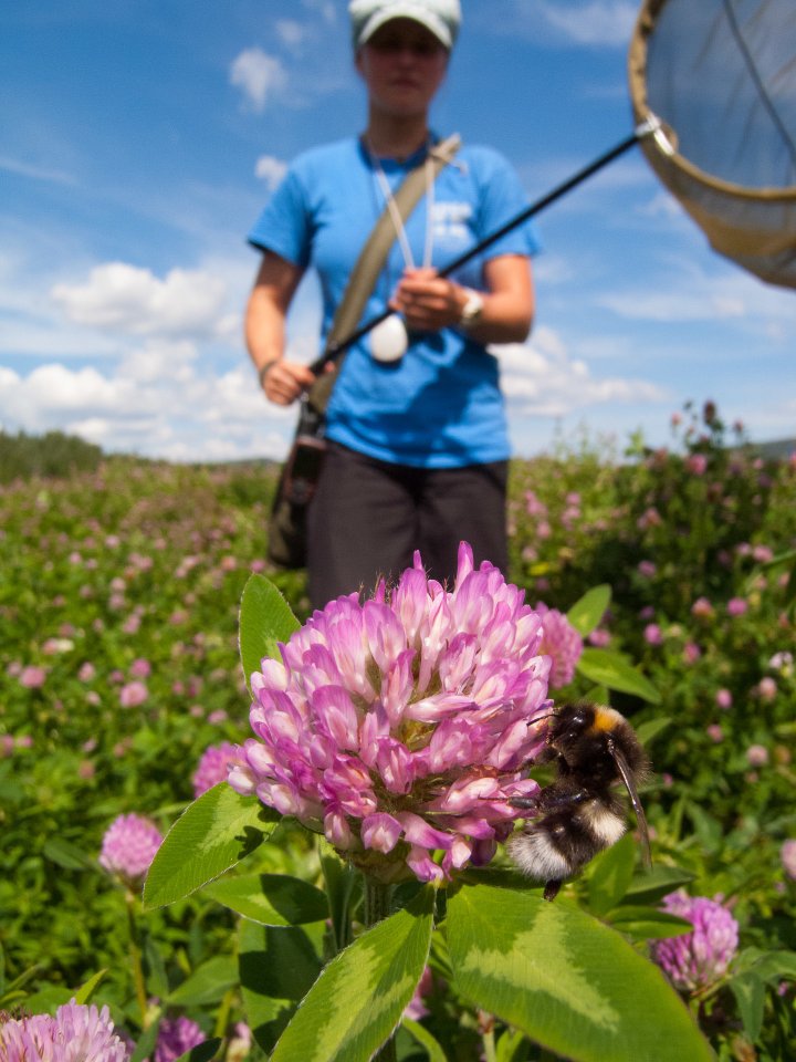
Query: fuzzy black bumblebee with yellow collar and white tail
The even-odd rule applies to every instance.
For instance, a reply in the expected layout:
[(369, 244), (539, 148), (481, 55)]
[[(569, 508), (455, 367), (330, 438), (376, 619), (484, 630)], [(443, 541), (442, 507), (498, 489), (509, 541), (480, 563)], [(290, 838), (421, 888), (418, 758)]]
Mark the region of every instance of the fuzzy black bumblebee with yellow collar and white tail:
[(545, 899), (555, 899), (565, 878), (577, 874), (627, 830), (624, 802), (612, 791), (624, 782), (630, 794), (650, 866), (649, 832), (638, 784), (649, 760), (627, 719), (605, 705), (562, 705), (551, 715), (547, 745), (537, 762), (555, 761), (557, 774), (536, 796), (516, 798), (515, 808), (538, 812), (514, 833), (507, 851), (528, 877), (545, 882)]

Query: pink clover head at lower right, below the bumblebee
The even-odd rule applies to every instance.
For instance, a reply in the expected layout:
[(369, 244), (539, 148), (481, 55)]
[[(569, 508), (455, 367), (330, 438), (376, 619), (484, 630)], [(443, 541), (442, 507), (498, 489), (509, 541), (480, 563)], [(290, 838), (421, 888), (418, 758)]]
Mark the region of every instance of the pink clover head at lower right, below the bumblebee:
[(692, 933), (668, 937), (653, 945), (656, 962), (675, 988), (695, 991), (715, 983), (737, 950), (739, 925), (726, 907), (704, 896), (670, 893), (663, 899), (669, 914), (692, 923)]

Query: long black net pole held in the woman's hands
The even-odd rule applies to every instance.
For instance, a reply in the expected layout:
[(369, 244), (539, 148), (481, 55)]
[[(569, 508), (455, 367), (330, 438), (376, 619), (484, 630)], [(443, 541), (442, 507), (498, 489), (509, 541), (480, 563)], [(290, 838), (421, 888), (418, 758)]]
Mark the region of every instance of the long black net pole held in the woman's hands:
[[(661, 150), (666, 152), (667, 154), (673, 153), (673, 147), (666, 135), (662, 123), (659, 118), (654, 117), (654, 115), (651, 115), (645, 122), (641, 122), (639, 125), (637, 125), (630, 136), (626, 137), (619, 144), (616, 144), (612, 148), (610, 148), (610, 150), (605, 152), (605, 154), (594, 159), (594, 162), (589, 163), (588, 166), (584, 166), (583, 169), (579, 169), (567, 180), (562, 181), (561, 185), (557, 185), (555, 188), (548, 191), (547, 195), (542, 196), (541, 199), (532, 202), (531, 206), (526, 207), (510, 221), (506, 221), (505, 225), (502, 225), (499, 229), (495, 229), (494, 232), (485, 236), (479, 243), (475, 243), (469, 250), (464, 251), (463, 254), (454, 258), (452, 262), (448, 262), (448, 264), (439, 271), (438, 275), (449, 277), (451, 273), (455, 272), (457, 269), (460, 269), (467, 262), (480, 254), (481, 251), (502, 239), (502, 237), (504, 237), (507, 232), (511, 232), (512, 229), (516, 229), (535, 215), (541, 214), (542, 210), (545, 210), (551, 206), (551, 204), (556, 202), (556, 200), (561, 199), (568, 191), (572, 191), (573, 188), (576, 188), (589, 177), (593, 177), (596, 173), (598, 173), (600, 169), (604, 169), (616, 158), (625, 155), (626, 152), (629, 152), (631, 147), (635, 147), (640, 140), (646, 139), (648, 136), (653, 136), (656, 138), (656, 142)], [(323, 356), (318, 357), (308, 366), (310, 372), (317, 376), (318, 373), (323, 372), (324, 366), (328, 365), (329, 362), (336, 362), (337, 358), (344, 354), (349, 346), (353, 346), (354, 343), (357, 343), (364, 335), (367, 335), (368, 332), (375, 329), (377, 324), (380, 324), (383, 321), (386, 321), (387, 317), (391, 316), (392, 313), (394, 311), (387, 306), (380, 313), (362, 324), (355, 332), (352, 332), (347, 339), (341, 340), (339, 343), (329, 344)]]

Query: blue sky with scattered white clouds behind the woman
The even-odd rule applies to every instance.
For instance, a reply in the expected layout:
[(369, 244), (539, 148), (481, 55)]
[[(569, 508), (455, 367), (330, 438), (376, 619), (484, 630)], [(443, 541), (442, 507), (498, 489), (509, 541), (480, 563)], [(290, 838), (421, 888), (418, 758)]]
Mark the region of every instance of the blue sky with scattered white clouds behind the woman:
[[(501, 150), (530, 202), (632, 132), (635, 3), (462, 8), (433, 128)], [(242, 339), (245, 235), (296, 154), (364, 127), (346, 3), (8, 0), (0, 100), (0, 428), (284, 456), (295, 413)], [(517, 455), (660, 445), (708, 398), (755, 441), (796, 434), (796, 291), (713, 252), (639, 148), (536, 227), (534, 331), (495, 351)], [(318, 321), (310, 275), (292, 356), (317, 356)]]

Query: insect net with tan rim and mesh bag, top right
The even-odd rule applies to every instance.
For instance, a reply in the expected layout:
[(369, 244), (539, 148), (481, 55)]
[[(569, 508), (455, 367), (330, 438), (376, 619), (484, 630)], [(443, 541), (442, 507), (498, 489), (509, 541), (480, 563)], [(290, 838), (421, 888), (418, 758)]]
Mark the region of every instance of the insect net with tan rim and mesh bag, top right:
[(716, 251), (796, 288), (796, 0), (645, 0), (628, 66), (660, 180)]

